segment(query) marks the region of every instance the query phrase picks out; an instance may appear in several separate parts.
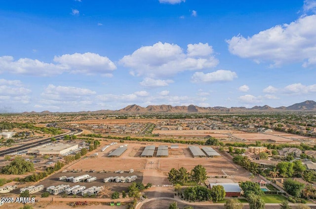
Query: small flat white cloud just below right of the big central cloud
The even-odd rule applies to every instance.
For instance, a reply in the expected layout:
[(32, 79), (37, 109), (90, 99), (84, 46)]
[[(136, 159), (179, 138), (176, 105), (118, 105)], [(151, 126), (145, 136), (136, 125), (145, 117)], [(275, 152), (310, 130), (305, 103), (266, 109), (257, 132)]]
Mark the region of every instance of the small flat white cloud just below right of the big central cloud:
[(237, 78), (237, 74), (231, 70), (217, 70), (209, 73), (195, 72), (191, 77), (194, 83), (232, 81), (235, 78)]

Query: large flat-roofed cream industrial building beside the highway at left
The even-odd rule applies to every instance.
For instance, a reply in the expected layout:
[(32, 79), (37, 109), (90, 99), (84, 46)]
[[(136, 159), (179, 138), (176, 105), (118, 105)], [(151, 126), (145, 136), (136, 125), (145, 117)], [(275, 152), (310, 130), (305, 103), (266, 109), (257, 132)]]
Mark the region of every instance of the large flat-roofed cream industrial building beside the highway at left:
[(28, 149), (28, 155), (63, 155), (67, 152), (78, 150), (78, 144), (51, 144), (38, 146), (31, 149)]

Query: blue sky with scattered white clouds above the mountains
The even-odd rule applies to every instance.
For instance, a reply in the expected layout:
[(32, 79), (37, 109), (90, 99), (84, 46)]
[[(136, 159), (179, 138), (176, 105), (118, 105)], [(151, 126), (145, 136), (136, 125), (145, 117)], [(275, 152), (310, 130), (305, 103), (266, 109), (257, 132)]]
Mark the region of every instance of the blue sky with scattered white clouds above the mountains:
[(0, 5), (0, 112), (316, 99), (316, 0)]

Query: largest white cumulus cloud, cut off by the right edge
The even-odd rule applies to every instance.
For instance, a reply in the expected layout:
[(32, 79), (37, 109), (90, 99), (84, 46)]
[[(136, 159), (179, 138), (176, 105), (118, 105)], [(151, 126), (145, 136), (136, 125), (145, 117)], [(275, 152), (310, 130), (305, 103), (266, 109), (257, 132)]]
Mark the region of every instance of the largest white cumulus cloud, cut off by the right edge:
[(302, 16), (251, 37), (237, 35), (227, 40), (229, 51), (257, 63), (271, 62), (273, 67), (292, 62), (309, 67), (316, 64), (315, 23), (316, 15)]

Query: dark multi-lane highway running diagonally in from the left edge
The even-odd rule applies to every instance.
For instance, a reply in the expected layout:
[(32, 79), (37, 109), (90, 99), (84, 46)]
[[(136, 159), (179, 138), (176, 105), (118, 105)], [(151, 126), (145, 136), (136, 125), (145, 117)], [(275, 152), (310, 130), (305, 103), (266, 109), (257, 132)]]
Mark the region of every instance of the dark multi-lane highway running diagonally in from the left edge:
[(72, 129), (72, 128), (62, 128), (62, 129), (68, 129), (70, 131), (70, 133), (68, 132), (68, 133), (64, 133), (64, 134), (61, 134), (61, 135), (57, 135), (55, 137), (50, 137), (50, 138), (47, 138), (47, 139), (40, 139), (40, 140), (35, 141), (35, 142), (23, 144), (21, 146), (16, 146), (16, 147), (13, 147), (13, 148), (8, 148), (8, 149), (5, 149), (5, 150), (1, 150), (0, 151), (0, 156), (4, 156), (4, 155), (7, 155), (7, 154), (10, 154), (10, 153), (13, 153), (13, 152), (26, 150), (26, 149), (29, 149), (29, 148), (32, 148), (32, 147), (36, 147), (36, 146), (40, 146), (40, 145), (43, 145), (43, 144), (46, 144), (46, 143), (50, 143), (51, 142), (51, 138), (55, 138), (55, 139), (59, 140), (59, 139), (62, 139), (65, 135), (72, 136), (72, 135), (77, 135), (79, 133), (82, 133), (81, 129)]

